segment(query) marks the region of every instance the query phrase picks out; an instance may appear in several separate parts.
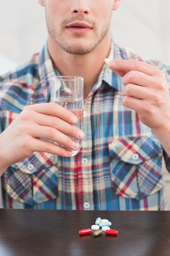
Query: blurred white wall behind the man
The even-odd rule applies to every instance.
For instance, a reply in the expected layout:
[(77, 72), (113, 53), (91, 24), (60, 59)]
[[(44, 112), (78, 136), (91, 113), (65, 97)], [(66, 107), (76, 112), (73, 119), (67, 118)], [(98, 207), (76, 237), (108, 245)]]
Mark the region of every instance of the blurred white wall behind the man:
[[(167, 63), (169, 27), (168, 0), (122, 0), (121, 7), (113, 12), (112, 32), (120, 46)], [(44, 8), (37, 0), (0, 0), (0, 73), (41, 49), (46, 34)], [(170, 210), (170, 175), (165, 177)]]

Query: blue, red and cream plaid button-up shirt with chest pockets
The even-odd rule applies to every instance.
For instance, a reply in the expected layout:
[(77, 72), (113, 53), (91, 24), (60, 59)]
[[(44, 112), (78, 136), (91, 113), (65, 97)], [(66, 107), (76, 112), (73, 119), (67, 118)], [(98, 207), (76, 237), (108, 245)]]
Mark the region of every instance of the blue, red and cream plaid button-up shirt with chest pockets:
[[(146, 61), (113, 40), (108, 58)], [(170, 85), (170, 67), (146, 62), (163, 70)], [(0, 77), (1, 132), (26, 105), (50, 101), (56, 74), (45, 44), (27, 63)], [(104, 64), (84, 101), (85, 138), (79, 153), (66, 158), (35, 152), (12, 164), (2, 175), (4, 207), (166, 209), (162, 157), (168, 169), (170, 159), (137, 113), (122, 106), (122, 87), (121, 77)]]

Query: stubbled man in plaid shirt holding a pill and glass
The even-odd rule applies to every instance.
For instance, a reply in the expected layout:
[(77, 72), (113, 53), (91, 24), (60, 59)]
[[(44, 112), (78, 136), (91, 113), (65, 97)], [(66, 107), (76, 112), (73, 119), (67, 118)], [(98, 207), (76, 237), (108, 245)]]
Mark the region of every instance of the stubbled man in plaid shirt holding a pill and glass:
[[(4, 207), (166, 209), (161, 167), (164, 156), (170, 169), (170, 67), (115, 45), (110, 17), (121, 0), (38, 2), (48, 41), (1, 79)], [(114, 60), (108, 66), (107, 57)], [(49, 103), (55, 74), (84, 77), (84, 132), (73, 113)], [(79, 145), (67, 135), (84, 138), (74, 157)]]

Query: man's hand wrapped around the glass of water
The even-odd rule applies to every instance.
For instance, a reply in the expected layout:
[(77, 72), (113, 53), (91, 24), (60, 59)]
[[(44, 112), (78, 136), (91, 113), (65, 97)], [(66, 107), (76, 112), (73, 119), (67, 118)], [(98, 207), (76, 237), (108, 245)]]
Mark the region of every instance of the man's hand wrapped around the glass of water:
[(73, 112), (55, 103), (26, 106), (0, 134), (0, 174), (35, 151), (70, 157), (79, 143), (67, 135), (78, 140), (84, 138), (84, 132), (74, 126), (77, 121)]

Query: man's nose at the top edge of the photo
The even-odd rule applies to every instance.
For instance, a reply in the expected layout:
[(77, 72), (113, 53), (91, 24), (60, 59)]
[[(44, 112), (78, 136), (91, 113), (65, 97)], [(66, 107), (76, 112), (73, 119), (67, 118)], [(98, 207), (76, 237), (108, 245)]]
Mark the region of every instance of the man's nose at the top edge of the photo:
[(79, 14), (88, 14), (90, 12), (89, 1), (75, 0), (71, 4), (71, 12)]

